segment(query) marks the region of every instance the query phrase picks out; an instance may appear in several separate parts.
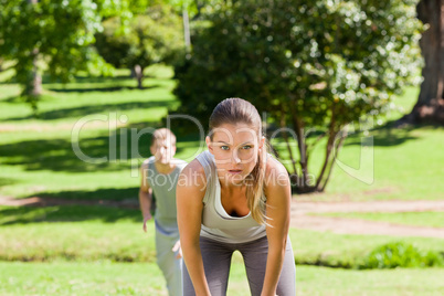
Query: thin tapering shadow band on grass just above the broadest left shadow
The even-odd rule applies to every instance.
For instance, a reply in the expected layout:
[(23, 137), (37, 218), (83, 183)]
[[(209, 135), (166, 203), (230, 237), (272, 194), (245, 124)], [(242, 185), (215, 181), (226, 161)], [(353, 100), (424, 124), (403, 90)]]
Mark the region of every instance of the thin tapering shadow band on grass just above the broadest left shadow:
[[(156, 107), (171, 107), (175, 105), (172, 101), (166, 99), (156, 99), (156, 101), (147, 101), (147, 102), (130, 102), (124, 104), (104, 104), (104, 105), (92, 105), (92, 106), (82, 106), (75, 108), (65, 108), (57, 110), (49, 110), (49, 112), (40, 112), (39, 119), (42, 120), (54, 120), (61, 118), (81, 118), (91, 114), (105, 114), (109, 112), (121, 112), (121, 110), (133, 110), (133, 109), (149, 109)], [(15, 117), (8, 118), (8, 120), (29, 120), (33, 119), (32, 115), (25, 117)]]

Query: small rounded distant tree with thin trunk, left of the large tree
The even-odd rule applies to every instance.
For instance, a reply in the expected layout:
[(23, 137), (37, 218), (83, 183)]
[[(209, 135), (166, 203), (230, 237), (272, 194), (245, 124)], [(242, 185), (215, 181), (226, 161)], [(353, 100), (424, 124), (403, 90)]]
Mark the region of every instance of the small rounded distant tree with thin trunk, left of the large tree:
[(146, 67), (169, 63), (183, 49), (180, 17), (167, 6), (151, 7), (145, 14), (135, 15), (128, 32), (121, 29), (119, 17), (104, 21), (103, 25), (104, 31), (96, 35), (99, 54), (116, 67), (131, 68), (139, 88)]

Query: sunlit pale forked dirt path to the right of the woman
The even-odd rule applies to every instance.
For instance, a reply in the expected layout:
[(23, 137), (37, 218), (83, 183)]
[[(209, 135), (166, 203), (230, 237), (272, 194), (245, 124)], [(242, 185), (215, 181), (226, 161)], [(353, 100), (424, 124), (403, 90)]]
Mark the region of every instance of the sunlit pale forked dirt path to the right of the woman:
[(395, 236), (424, 236), (444, 239), (444, 228), (411, 226), (361, 219), (343, 219), (310, 215), (310, 213), (347, 212), (424, 212), (442, 211), (444, 200), (440, 201), (367, 201), (367, 202), (309, 202), (292, 201), (290, 226), (340, 234), (382, 234)]

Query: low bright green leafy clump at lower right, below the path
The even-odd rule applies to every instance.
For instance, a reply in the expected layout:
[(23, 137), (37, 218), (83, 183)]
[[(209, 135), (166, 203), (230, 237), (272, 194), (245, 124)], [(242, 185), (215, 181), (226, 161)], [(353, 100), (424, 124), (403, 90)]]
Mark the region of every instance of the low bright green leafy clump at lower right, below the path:
[(421, 252), (412, 244), (390, 243), (373, 250), (359, 268), (395, 268), (443, 266), (444, 256), (429, 251)]

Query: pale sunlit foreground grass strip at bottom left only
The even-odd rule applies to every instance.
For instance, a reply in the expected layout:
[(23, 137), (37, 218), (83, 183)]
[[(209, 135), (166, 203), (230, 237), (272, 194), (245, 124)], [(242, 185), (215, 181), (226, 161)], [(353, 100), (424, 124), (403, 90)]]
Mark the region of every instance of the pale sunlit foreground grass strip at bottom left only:
[(0, 294), (4, 296), (168, 295), (155, 263), (2, 262), (0, 266)]

